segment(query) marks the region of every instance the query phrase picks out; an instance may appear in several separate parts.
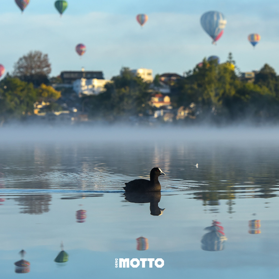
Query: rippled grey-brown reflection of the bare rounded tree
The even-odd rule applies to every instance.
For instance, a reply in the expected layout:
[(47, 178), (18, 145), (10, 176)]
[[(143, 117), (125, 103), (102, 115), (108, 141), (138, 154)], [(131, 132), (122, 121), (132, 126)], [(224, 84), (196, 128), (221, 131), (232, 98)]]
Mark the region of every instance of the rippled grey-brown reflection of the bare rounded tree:
[(50, 194), (41, 195), (22, 195), (15, 198), (20, 208), (20, 213), (27, 214), (42, 214), (49, 212), (49, 205), (51, 201)]

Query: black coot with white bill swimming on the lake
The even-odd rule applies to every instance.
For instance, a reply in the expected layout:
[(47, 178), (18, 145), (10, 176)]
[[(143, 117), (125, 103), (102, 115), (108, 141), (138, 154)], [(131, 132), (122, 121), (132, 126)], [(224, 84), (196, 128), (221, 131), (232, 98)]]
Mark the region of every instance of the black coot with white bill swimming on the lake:
[(160, 168), (153, 168), (150, 170), (150, 180), (135, 179), (125, 183), (123, 187), (125, 192), (157, 192), (161, 191), (161, 184), (158, 180), (159, 175), (165, 175)]

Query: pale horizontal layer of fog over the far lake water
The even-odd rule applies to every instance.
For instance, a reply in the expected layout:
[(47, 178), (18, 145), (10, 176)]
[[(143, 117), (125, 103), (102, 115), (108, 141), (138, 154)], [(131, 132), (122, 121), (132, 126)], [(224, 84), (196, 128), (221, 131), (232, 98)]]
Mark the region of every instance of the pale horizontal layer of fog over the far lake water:
[(222, 142), (277, 144), (279, 127), (13, 126), (0, 128), (0, 143), (19, 142)]

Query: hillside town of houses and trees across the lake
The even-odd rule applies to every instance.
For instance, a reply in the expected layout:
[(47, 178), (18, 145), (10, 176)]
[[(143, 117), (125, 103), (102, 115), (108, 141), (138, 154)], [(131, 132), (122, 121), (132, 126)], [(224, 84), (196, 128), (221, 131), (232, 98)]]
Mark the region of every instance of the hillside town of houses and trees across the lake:
[(28, 56), (37, 57), (35, 66), (45, 63), (45, 69), (28, 74), (19, 60), (13, 75), (7, 73), (0, 81), (0, 125), (15, 120), (156, 125), (279, 119), (279, 78), (274, 69), (265, 64), (259, 71), (241, 72), (231, 53), (224, 63), (216, 56), (204, 58), (183, 75), (122, 67), (111, 80), (102, 71), (85, 68), (49, 78), (47, 55), (37, 51), (24, 57)]

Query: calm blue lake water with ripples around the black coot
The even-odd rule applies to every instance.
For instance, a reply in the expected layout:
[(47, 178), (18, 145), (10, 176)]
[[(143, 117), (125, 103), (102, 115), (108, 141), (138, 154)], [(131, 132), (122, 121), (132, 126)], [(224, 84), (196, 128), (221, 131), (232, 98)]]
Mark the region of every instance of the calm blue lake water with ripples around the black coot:
[(1, 278), (278, 278), (277, 130), (0, 130)]

